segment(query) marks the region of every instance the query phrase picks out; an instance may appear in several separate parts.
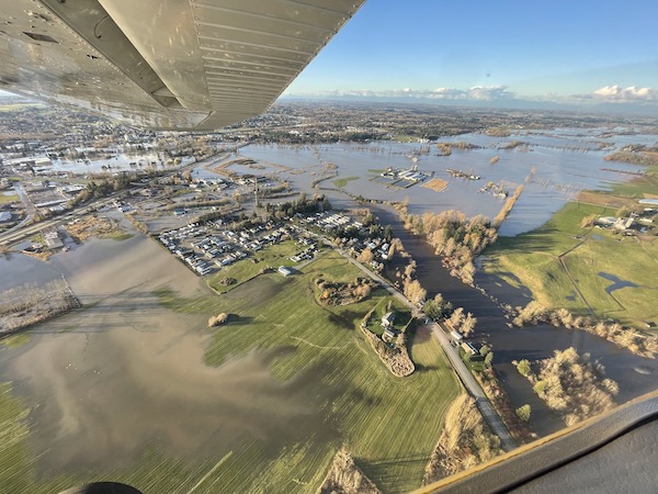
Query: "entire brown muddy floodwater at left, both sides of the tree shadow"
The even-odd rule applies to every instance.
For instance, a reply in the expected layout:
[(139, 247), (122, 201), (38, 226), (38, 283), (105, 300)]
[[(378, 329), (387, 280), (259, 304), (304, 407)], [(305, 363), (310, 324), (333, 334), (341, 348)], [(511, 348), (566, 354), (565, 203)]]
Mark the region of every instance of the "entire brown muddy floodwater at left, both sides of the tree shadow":
[(203, 294), (198, 279), (155, 242), (97, 240), (45, 266), (94, 305), (39, 325), (24, 347), (0, 347), (0, 381), (31, 407), (39, 475), (131, 465), (148, 449), (192, 461), (254, 439), (274, 453), (297, 438), (336, 436), (315, 384), (324, 370), (288, 382), (271, 375), (272, 360), (292, 350), (204, 364), (206, 321), (152, 294), (163, 285)]

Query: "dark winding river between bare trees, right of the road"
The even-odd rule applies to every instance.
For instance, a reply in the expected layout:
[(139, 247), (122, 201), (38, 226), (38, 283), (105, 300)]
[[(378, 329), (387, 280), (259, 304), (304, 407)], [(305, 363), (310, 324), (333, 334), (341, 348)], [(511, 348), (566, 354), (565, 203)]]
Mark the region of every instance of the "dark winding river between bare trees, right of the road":
[[(422, 238), (409, 234), (395, 212), (378, 209), (376, 214), (383, 224), (393, 226), (394, 235), (402, 240), (405, 249), (418, 262), (416, 272), (428, 291), (428, 296), (442, 293), (445, 300), (455, 306), (464, 307), (478, 318), (475, 337), (486, 339), (492, 346), (495, 368), (506, 391), (514, 406), (530, 403), (533, 409), (532, 426), (538, 434), (549, 434), (564, 427), (564, 424), (533, 394), (527, 381), (512, 366), (513, 360), (543, 359), (551, 357), (556, 349), (563, 350), (572, 346), (579, 353), (589, 352), (592, 360), (600, 361), (605, 367), (606, 377), (620, 384), (617, 403), (624, 403), (656, 389), (656, 360), (634, 356), (585, 332), (556, 328), (546, 324), (523, 329), (509, 328), (509, 319), (498, 303), (451, 277), (442, 266), (441, 259), (434, 256), (432, 248)], [(530, 300), (526, 291), (517, 290), (501, 280), (489, 278), (478, 279), (477, 282), (487, 285), (500, 301), (525, 304)]]

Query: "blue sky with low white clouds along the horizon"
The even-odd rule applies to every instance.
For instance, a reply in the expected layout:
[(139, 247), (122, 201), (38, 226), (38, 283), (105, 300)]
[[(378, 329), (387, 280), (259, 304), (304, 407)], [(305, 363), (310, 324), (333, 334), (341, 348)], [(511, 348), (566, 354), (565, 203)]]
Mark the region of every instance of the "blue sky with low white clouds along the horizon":
[(367, 0), (285, 96), (658, 108), (656, 20), (656, 0)]

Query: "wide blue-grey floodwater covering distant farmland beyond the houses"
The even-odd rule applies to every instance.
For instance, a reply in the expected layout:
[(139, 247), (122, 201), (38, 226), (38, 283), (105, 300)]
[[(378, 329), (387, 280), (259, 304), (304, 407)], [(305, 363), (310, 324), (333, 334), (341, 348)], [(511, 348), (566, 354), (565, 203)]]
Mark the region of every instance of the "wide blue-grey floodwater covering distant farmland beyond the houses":
[[(242, 148), (240, 155), (265, 165), (290, 167), (290, 171), (279, 170), (277, 176), (307, 193), (319, 191), (311, 184), (321, 176), (324, 164), (336, 164), (338, 178), (358, 177), (347, 181), (344, 191), (377, 200), (402, 201), (408, 198), (411, 213), (455, 209), (469, 216), (485, 214), (494, 217), (500, 211), (503, 199), (479, 190), (492, 182), (511, 194), (518, 186), (525, 184), (521, 199), (500, 231), (501, 235), (513, 236), (541, 226), (580, 190), (603, 190), (610, 183), (628, 180), (627, 172), (638, 171), (638, 167), (633, 165), (605, 161), (603, 157), (613, 149), (627, 144), (658, 142), (658, 135), (601, 137), (606, 132), (610, 130), (520, 131), (509, 137), (464, 134), (441, 141), (465, 142), (476, 148), (453, 148), (450, 156), (441, 156), (434, 145), (385, 142), (318, 146), (250, 145)], [(522, 144), (513, 145), (515, 142)], [(499, 157), (496, 164), (491, 164), (494, 157)], [(400, 188), (375, 180), (387, 167), (408, 169), (415, 164), (433, 178), (446, 180), (447, 188), (436, 192), (419, 184)], [(272, 165), (268, 168), (272, 169)], [(480, 179), (454, 178), (445, 171), (447, 168), (473, 172)], [(336, 206), (350, 206), (345, 194), (336, 191), (338, 188), (333, 180), (320, 182), (320, 191), (327, 193)]]

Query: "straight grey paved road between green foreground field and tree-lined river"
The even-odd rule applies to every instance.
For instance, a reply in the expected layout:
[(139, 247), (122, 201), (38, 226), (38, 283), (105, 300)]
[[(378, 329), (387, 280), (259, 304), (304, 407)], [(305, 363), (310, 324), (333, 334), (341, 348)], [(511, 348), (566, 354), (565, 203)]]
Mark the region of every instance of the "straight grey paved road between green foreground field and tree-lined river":
[[(405, 305), (410, 307), (416, 313), (417, 317), (426, 317), (424, 314), (395, 287), (390, 285), (390, 283), (384, 280), (382, 277), (367, 269), (365, 266), (356, 261), (356, 259), (354, 259), (343, 250), (338, 249), (338, 251), (365, 274), (371, 277), (373, 280), (379, 282), (388, 293), (390, 293)], [(458, 350), (451, 345), (450, 338), (446, 336), (446, 332), (444, 332), (444, 328), (442, 328), (436, 323), (429, 323), (427, 326), (432, 330), (432, 334), (441, 345), (441, 348), (443, 348), (444, 353), (447, 356), (450, 363), (462, 380), (462, 383), (464, 383), (464, 386), (466, 388), (468, 393), (475, 398), (475, 403), (477, 404), (477, 407), (483, 414), (485, 422), (489, 425), (494, 434), (496, 434), (500, 438), (502, 449), (504, 449), (506, 451), (511, 451), (512, 449), (517, 448), (517, 444), (514, 442), (514, 440), (510, 436), (509, 430), (498, 416), (498, 413), (491, 405), (491, 402), (489, 402), (489, 398), (480, 388), (479, 383), (475, 380), (464, 361), (461, 359)]]

